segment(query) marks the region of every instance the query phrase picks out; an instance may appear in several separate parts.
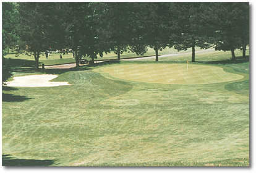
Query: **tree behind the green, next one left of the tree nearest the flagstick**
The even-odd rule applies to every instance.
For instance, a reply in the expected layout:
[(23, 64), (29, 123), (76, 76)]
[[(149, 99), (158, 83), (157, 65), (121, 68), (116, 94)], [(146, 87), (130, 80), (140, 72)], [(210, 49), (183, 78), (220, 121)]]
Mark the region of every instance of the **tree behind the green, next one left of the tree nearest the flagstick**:
[[(139, 3), (138, 3), (139, 4)], [(155, 50), (158, 61), (158, 51), (173, 46), (173, 36), (176, 35), (175, 6), (173, 2), (140, 3), (135, 30), (137, 36), (134, 42), (142, 46), (150, 46)]]

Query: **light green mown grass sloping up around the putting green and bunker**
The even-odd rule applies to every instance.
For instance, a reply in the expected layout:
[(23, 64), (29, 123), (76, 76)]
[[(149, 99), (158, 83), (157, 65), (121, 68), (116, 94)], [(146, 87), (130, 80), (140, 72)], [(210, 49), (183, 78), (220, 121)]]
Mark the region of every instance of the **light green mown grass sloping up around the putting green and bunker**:
[(249, 166), (249, 63), (217, 66), (245, 78), (163, 85), (48, 70), (72, 86), (4, 88), (2, 153), (53, 166)]

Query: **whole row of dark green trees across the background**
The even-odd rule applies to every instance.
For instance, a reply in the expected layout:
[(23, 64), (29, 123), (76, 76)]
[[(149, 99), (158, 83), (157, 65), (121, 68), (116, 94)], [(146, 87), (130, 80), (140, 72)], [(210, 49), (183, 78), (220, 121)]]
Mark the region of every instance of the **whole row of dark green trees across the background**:
[[(231, 51), (249, 44), (249, 2), (2, 2), (2, 50), (32, 54), (71, 48), (79, 58), (195, 47)], [(17, 46), (19, 45), (19, 46)]]

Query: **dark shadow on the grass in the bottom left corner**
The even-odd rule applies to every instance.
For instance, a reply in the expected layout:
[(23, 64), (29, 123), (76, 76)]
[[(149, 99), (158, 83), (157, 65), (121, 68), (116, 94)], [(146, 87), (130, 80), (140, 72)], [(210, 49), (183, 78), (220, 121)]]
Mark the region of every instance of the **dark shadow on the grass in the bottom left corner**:
[(15, 159), (2, 154), (2, 166), (51, 166), (56, 160)]

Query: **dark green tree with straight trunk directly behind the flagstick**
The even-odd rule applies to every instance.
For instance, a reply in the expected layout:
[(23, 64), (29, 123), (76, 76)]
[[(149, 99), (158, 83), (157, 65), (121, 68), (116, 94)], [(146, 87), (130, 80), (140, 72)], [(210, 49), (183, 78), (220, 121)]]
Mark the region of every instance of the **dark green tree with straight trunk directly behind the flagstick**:
[(179, 34), (176, 36), (174, 48), (178, 51), (192, 48), (192, 62), (195, 62), (195, 47), (210, 48), (207, 43), (209, 28), (205, 25), (203, 16), (206, 15), (207, 4), (202, 2), (182, 2), (177, 4), (177, 19)]

